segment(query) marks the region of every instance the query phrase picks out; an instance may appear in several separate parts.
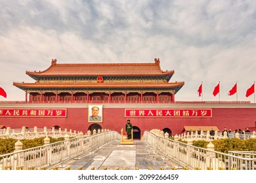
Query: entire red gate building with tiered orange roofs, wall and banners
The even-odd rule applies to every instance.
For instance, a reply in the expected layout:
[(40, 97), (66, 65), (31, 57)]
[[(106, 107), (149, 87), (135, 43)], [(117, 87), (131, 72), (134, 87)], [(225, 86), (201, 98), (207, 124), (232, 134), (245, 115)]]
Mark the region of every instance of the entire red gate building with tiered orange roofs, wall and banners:
[(53, 59), (45, 71), (26, 71), (35, 82), (13, 83), (24, 90), (25, 99), (0, 103), (0, 125), (120, 132), (129, 119), (135, 139), (151, 129), (169, 135), (199, 128), (256, 129), (255, 103), (175, 101), (184, 82), (171, 82), (174, 73), (163, 71), (160, 59), (153, 63), (57, 63)]

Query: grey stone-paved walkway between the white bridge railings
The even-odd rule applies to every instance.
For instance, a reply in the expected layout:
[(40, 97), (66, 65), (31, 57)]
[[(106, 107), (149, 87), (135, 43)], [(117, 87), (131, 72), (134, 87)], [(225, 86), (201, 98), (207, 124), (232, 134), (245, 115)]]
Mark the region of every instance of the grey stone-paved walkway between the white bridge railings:
[(72, 170), (77, 170), (82, 167), (84, 170), (95, 169), (108, 170), (127, 169), (135, 170), (148, 169), (159, 170), (163, 167), (165, 170), (177, 167), (170, 159), (160, 156), (156, 153), (152, 146), (146, 144), (144, 141), (134, 141), (134, 144), (120, 144), (120, 141), (112, 141), (96, 148), (93, 152), (85, 154), (79, 159), (72, 159), (64, 163), (65, 167), (70, 167)]

